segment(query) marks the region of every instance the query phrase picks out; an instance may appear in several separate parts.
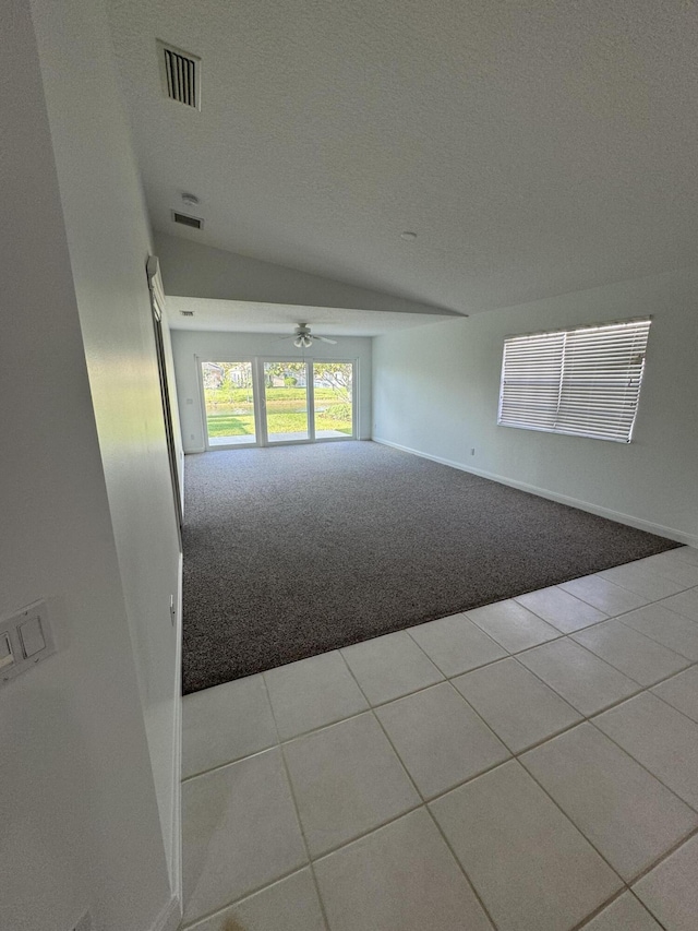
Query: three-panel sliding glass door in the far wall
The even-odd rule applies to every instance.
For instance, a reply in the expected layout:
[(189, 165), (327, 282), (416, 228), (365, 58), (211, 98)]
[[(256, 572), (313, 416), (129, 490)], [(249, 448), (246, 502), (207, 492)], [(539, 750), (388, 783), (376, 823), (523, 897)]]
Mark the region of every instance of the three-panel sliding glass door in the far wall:
[(201, 375), (209, 450), (356, 435), (351, 361), (202, 361)]

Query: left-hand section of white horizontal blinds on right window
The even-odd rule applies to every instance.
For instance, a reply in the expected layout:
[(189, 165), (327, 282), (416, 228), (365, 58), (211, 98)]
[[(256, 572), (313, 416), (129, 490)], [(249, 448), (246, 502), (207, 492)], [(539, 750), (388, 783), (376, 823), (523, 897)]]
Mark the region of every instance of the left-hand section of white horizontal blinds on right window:
[(504, 343), (500, 423), (551, 430), (557, 415), (564, 333), (515, 336)]

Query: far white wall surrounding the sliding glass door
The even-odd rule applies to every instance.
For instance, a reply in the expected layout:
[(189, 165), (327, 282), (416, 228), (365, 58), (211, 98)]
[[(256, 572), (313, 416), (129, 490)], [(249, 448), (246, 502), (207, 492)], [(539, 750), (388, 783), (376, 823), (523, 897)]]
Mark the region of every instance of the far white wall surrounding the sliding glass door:
[[(165, 279), (165, 286), (168, 282)], [(302, 359), (292, 341), (267, 333), (209, 333), (172, 330), (172, 353), (179, 396), (180, 422), (184, 452), (200, 453), (205, 449), (205, 425), (201, 397), (201, 381), (196, 357), (203, 361), (238, 361), (265, 356), (276, 359)], [(371, 438), (371, 349), (372, 339), (365, 336), (338, 336), (337, 345), (313, 343), (304, 358), (332, 361), (358, 361), (356, 370), (359, 404), (358, 432), (360, 440)]]

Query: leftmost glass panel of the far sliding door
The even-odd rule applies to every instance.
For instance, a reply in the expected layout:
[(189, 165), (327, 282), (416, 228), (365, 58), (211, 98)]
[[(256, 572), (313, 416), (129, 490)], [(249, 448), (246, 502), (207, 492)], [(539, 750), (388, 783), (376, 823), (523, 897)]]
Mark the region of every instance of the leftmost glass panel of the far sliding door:
[(208, 446), (257, 442), (252, 362), (202, 362)]

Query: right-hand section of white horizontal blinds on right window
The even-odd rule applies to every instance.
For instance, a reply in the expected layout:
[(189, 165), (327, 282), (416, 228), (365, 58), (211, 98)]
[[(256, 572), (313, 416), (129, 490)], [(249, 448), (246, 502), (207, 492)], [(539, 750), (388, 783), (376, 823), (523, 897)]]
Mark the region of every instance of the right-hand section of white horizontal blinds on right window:
[(567, 333), (557, 432), (630, 441), (649, 329), (640, 320)]

